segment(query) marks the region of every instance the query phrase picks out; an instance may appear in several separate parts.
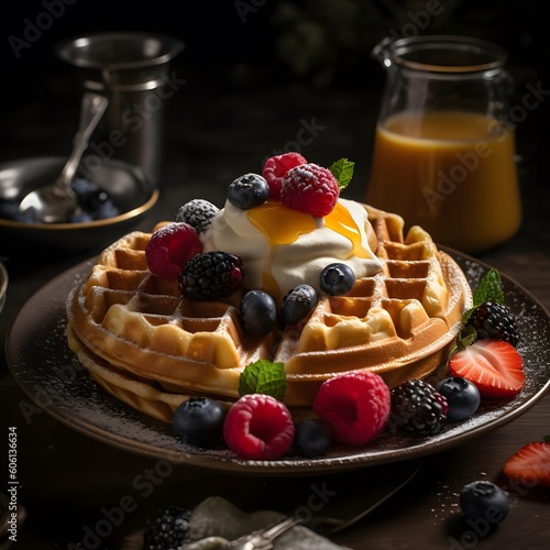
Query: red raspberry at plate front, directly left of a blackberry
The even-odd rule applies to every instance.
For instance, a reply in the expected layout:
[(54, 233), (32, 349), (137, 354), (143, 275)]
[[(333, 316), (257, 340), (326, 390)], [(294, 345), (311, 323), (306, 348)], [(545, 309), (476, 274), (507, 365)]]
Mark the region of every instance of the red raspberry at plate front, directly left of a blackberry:
[(371, 371), (341, 374), (322, 383), (314, 410), (331, 427), (336, 441), (363, 444), (386, 425), (389, 388)]

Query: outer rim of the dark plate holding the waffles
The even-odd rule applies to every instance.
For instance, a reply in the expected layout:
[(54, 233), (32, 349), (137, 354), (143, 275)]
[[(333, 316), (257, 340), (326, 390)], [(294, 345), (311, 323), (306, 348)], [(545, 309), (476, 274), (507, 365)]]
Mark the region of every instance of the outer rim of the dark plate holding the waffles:
[[(484, 271), (490, 270), (492, 266), (481, 260), (477, 260), (473, 256), (464, 254), (462, 252), (455, 251), (454, 249), (450, 249), (448, 246), (438, 246), (439, 250), (442, 250), (451, 255), (451, 257), (457, 261), (457, 258), (461, 258), (466, 262), (471, 262), (482, 267)], [(48, 292), (52, 292), (57, 286), (62, 285), (66, 279), (75, 278), (78, 276), (85, 276), (86, 273), (91, 268), (97, 256), (85, 260), (73, 267), (64, 271), (63, 273), (56, 275), (51, 280), (45, 283), (42, 287), (40, 287), (21, 307), (20, 311), (11, 322), (7, 336), (6, 336), (6, 356), (8, 361), (8, 367), (21, 387), (21, 389), (26, 394), (29, 398), (31, 398), (34, 403), (36, 403), (41, 409), (47, 413), (50, 416), (65, 425), (66, 427), (78, 431), (79, 433), (90, 437), (97, 441), (109, 444), (120, 450), (124, 450), (128, 452), (133, 452), (136, 454), (141, 454), (143, 457), (155, 458), (155, 459), (165, 459), (172, 462), (173, 464), (185, 464), (188, 466), (197, 466), (206, 470), (216, 470), (218, 472), (226, 473), (237, 473), (237, 474), (246, 474), (246, 475), (304, 475), (304, 474), (319, 474), (327, 472), (340, 472), (348, 471), (360, 468), (375, 466), (382, 465), (393, 462), (400, 462), (409, 459), (418, 459), (426, 455), (436, 454), (439, 452), (443, 452), (451, 448), (458, 447), (463, 442), (482, 436), (483, 433), (493, 431), (496, 428), (505, 426), (514, 421), (519, 416), (524, 415), (527, 410), (529, 410), (532, 406), (535, 406), (540, 399), (544, 397), (546, 394), (550, 393), (550, 377), (546, 381), (546, 383), (537, 389), (537, 392), (530, 396), (527, 400), (520, 403), (517, 407), (514, 407), (512, 410), (505, 413), (502, 416), (496, 416), (495, 418), (488, 419), (487, 421), (474, 426), (472, 429), (464, 429), (460, 433), (454, 433), (448, 438), (443, 438), (441, 440), (433, 441), (432, 443), (422, 446), (422, 447), (409, 447), (402, 449), (389, 449), (389, 450), (377, 450), (375, 454), (369, 454), (361, 452), (361, 449), (364, 447), (358, 447), (358, 452), (352, 454), (343, 454), (341, 457), (319, 457), (316, 459), (279, 459), (276, 461), (248, 461), (240, 460), (234, 457), (228, 457), (224, 454), (213, 454), (210, 455), (205, 454), (201, 451), (189, 451), (185, 450), (172, 450), (164, 447), (156, 447), (150, 442), (135, 440), (123, 436), (118, 432), (108, 431), (101, 426), (97, 426), (92, 422), (86, 421), (85, 418), (80, 418), (78, 416), (72, 416), (69, 413), (65, 411), (62, 408), (53, 406), (48, 403), (38, 404), (37, 403), (37, 392), (34, 392), (33, 388), (29, 387), (28, 384), (21, 380), (21, 374), (24, 371), (21, 371), (16, 366), (16, 361), (14, 360), (14, 343), (13, 340), (15, 338), (18, 327), (24, 322), (22, 320), (25, 310), (29, 310), (32, 305), (40, 300)], [(499, 272), (501, 273), (501, 272)], [(512, 277), (507, 276), (505, 273), (501, 273), (501, 277), (510, 285), (515, 290), (522, 293), (526, 298), (528, 298), (531, 302), (531, 306), (536, 306), (546, 320), (550, 323), (550, 314), (547, 308), (534, 296), (531, 292), (526, 289), (521, 284), (514, 280)], [(466, 278), (468, 274), (466, 274)], [(469, 279), (469, 284), (471, 284)], [(67, 296), (72, 287), (67, 289)], [(59, 297), (55, 296), (50, 298), (51, 301), (56, 302), (57, 307), (61, 306)], [(65, 311), (65, 300), (63, 300), (63, 310)], [(68, 346), (67, 346), (68, 349)], [(84, 369), (84, 367), (82, 367)], [(143, 413), (132, 409), (129, 405), (125, 405), (121, 402), (117, 402), (114, 397), (107, 394), (105, 389), (99, 387), (98, 391), (105, 394), (105, 397), (109, 400), (113, 400), (113, 406), (118, 406), (124, 409), (130, 409), (140, 420), (144, 422), (163, 426), (164, 422), (161, 420), (156, 420), (146, 416)], [(468, 420), (466, 420), (468, 422)], [(172, 436), (175, 438), (175, 436)], [(427, 440), (420, 440), (427, 441)], [(182, 443), (183, 444), (183, 443)], [(397, 452), (396, 452), (397, 451)]]

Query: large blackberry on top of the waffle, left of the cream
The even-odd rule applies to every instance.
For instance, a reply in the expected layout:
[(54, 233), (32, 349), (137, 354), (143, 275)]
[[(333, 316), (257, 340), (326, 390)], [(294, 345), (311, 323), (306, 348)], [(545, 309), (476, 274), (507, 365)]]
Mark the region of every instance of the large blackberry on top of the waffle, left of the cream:
[(241, 287), (243, 275), (239, 256), (220, 251), (202, 252), (182, 270), (179, 292), (194, 301), (229, 298)]

